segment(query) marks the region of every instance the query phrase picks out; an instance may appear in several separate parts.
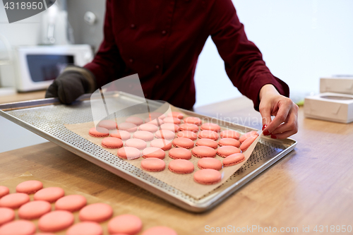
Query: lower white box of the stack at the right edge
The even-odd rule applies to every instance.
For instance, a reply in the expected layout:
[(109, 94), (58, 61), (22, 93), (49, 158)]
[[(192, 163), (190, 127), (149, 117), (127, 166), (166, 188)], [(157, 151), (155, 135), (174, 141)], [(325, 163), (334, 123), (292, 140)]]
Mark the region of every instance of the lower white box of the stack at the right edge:
[(306, 97), (304, 116), (313, 119), (350, 123), (353, 121), (353, 95), (325, 92)]

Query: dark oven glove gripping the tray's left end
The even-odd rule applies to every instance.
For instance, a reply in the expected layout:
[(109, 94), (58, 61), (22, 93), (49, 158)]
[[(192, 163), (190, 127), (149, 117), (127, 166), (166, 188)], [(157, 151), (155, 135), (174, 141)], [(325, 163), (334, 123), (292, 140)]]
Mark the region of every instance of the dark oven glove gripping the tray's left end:
[(93, 74), (85, 68), (69, 66), (49, 86), (45, 97), (59, 97), (61, 103), (71, 104), (81, 95), (94, 91)]

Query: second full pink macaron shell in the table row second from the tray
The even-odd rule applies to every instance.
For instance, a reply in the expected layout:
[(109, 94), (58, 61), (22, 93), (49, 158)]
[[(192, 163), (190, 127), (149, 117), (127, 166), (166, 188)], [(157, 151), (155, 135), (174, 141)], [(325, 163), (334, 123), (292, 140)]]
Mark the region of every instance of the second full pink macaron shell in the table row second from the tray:
[(42, 215), (52, 210), (52, 205), (44, 200), (35, 200), (25, 205), (21, 205), (18, 209), (18, 217), (21, 219), (38, 219)]

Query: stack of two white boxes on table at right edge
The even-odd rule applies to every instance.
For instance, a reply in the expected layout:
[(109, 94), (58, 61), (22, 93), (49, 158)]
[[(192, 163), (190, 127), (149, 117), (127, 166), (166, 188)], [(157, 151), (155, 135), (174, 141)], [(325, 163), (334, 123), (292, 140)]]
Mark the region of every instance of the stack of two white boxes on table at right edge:
[(320, 94), (306, 97), (304, 115), (313, 119), (353, 121), (353, 76), (320, 78)]

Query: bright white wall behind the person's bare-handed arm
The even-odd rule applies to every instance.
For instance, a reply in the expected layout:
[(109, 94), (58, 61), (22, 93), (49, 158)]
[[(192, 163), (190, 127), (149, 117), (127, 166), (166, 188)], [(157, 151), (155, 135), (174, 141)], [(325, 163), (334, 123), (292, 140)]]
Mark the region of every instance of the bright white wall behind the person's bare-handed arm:
[[(353, 74), (352, 0), (233, 0), (249, 40), (293, 95), (318, 92), (319, 78)], [(241, 95), (210, 38), (196, 68), (196, 107)], [(215, 94), (210, 96), (209, 94)]]

